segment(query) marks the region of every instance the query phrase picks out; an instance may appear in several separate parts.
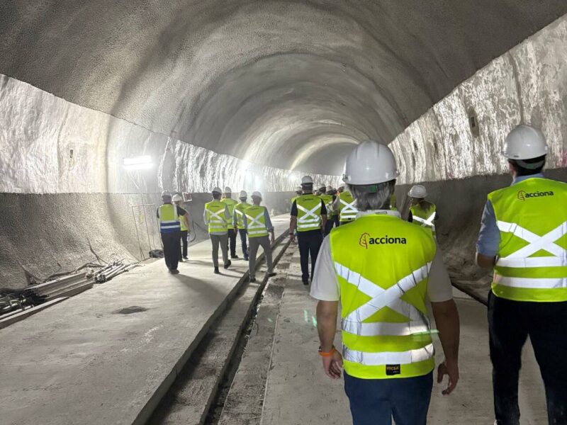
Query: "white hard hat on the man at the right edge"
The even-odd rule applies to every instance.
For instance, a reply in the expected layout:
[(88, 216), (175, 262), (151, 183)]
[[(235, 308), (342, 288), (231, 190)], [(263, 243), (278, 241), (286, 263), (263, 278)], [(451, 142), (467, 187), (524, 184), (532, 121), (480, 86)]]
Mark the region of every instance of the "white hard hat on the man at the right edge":
[(502, 154), (507, 159), (532, 159), (547, 154), (544, 133), (531, 125), (518, 125), (506, 137)]

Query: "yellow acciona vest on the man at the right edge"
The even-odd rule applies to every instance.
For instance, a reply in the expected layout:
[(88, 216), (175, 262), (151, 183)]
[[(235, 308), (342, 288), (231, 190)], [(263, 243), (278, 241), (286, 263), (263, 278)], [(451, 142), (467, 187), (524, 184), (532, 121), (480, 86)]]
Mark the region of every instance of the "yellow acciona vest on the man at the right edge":
[(531, 178), (488, 195), (500, 229), (492, 290), (515, 301), (567, 301), (567, 183)]

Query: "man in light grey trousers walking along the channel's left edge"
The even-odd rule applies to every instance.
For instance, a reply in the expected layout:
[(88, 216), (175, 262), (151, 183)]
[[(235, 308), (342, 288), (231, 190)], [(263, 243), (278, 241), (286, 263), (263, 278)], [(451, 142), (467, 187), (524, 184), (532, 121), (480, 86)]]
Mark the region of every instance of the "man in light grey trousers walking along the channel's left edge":
[[(271, 257), (270, 245), (270, 242), (273, 244), (276, 239), (274, 237), (274, 226), (271, 225), (268, 209), (266, 207), (262, 207), (260, 205), (261, 202), (262, 193), (253, 192), (253, 205), (246, 208), (244, 217), (248, 240), (250, 242), (248, 261), (250, 282), (256, 281), (256, 254), (258, 253), (259, 246), (262, 246), (262, 249), (264, 249), (266, 264), (268, 266), (268, 276), (276, 276), (276, 273), (274, 273), (274, 261)], [(268, 233), (270, 234), (269, 239)]]

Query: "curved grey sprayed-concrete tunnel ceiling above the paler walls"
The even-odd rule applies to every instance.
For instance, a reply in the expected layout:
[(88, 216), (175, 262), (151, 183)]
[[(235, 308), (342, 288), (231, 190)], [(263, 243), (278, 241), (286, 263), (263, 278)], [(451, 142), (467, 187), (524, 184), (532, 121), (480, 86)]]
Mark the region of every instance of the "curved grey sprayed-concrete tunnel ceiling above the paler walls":
[(565, 0), (8, 0), (0, 73), (215, 152), (337, 174), (353, 144), (391, 142), (564, 13)]

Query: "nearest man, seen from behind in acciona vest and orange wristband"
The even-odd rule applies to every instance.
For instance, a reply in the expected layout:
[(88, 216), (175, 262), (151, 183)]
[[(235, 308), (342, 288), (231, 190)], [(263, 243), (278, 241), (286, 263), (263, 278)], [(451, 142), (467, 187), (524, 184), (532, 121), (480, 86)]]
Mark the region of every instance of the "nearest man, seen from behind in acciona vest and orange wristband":
[[(344, 182), (357, 199), (357, 220), (334, 229), (321, 246), (310, 294), (318, 300), (319, 355), (330, 378), (344, 368), (354, 425), (425, 424), (435, 367), (427, 300), (449, 375), (459, 380), (459, 313), (442, 254), (430, 229), (390, 210), (398, 176), (386, 145), (366, 141), (347, 157)], [(342, 353), (333, 341), (339, 301)]]

